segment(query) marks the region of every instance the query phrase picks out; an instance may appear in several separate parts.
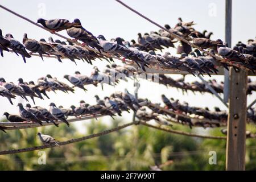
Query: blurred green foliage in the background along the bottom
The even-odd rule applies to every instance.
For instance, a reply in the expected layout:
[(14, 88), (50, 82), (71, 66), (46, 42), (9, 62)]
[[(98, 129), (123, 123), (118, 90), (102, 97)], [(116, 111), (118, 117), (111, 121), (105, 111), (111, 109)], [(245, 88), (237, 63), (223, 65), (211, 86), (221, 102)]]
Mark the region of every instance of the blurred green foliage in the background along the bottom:
[[(26, 148), (41, 145), (36, 137), (39, 131), (61, 141), (98, 133), (121, 125), (115, 120), (106, 125), (104, 120), (86, 121), (86, 133), (75, 127), (47, 126), (34, 129), (0, 133), (0, 150)], [(72, 126), (72, 125), (71, 125)], [(175, 125), (177, 130), (191, 131), (188, 127)], [(248, 126), (255, 130), (254, 126)], [(193, 129), (192, 132), (200, 133)], [(209, 135), (221, 135), (220, 129), (207, 130)], [(246, 141), (246, 169), (256, 169), (256, 141)], [(66, 146), (47, 148), (46, 165), (38, 164), (38, 152), (31, 151), (13, 155), (0, 155), (0, 170), (148, 170), (150, 166), (173, 163), (164, 170), (224, 170), (225, 140), (198, 139), (151, 129), (146, 126), (130, 126), (127, 129)], [(217, 152), (217, 165), (210, 165), (209, 151)]]

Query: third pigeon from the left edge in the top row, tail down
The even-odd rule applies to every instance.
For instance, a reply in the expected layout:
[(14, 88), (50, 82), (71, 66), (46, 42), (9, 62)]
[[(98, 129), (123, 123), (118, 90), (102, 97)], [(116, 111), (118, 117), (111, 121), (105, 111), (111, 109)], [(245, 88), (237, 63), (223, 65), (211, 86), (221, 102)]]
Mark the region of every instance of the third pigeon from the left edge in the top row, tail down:
[(26, 33), (23, 36), (23, 44), (29, 51), (38, 52), (42, 60), (44, 60), (43, 54), (49, 55), (48, 53), (43, 51), (43, 47), (38, 41), (36, 41), (35, 39), (28, 39)]

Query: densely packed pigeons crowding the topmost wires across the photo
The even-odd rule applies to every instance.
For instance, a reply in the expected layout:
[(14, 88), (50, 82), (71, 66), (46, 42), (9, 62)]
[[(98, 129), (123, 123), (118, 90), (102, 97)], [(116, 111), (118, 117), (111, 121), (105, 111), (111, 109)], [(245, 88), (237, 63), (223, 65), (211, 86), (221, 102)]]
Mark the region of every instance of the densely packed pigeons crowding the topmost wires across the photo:
[[(40, 18), (37, 23), (42, 24), (51, 32), (66, 30), (67, 34), (74, 38), (74, 40), (80, 40), (83, 45), (96, 48), (98, 51), (95, 52), (82, 46), (75, 46), (71, 42), (68, 42), (68, 45), (60, 40), (53, 42), (51, 37), (48, 39), (48, 43), (44, 39), (39, 41), (28, 39), (27, 34), (23, 36), (23, 46), (23, 44), (13, 38), (13, 35), (6, 34), (3, 37), (1, 32), (1, 55), (3, 56), (2, 50), (9, 51), (10, 48), (17, 55), (22, 55), (23, 60), (26, 62), (25, 57), (30, 57), (30, 54), (26, 51), (28, 49), (31, 52), (39, 53), (42, 59), (43, 54), (55, 55), (59, 61), (61, 61), (61, 58), (66, 57), (75, 63), (76, 59), (81, 59), (92, 64), (92, 60), (96, 57), (108, 60), (108, 57), (102, 54), (102, 52), (105, 52), (109, 55), (121, 56), (123, 59), (132, 60), (143, 71), (146, 70), (145, 67), (155, 65), (161, 68), (187, 71), (193, 75), (197, 72), (210, 75), (211, 73), (217, 73), (216, 67), (220, 65), (226, 69), (230, 66), (230, 64), (220, 63), (214, 57), (205, 55), (198, 49), (192, 51), (191, 46), (182, 42), (177, 48), (177, 52), (181, 53), (180, 57), (173, 56), (170, 52), (165, 52), (162, 55), (156, 54), (156, 50), (162, 51), (164, 47), (174, 47), (174, 43), (178, 41), (164, 30), (151, 31), (150, 34), (145, 33), (144, 35), (139, 33), (138, 43), (136, 43), (135, 40), (128, 42), (119, 37), (110, 41), (106, 40), (103, 35), (99, 35), (96, 38), (91, 32), (82, 27), (79, 19), (69, 22), (66, 19), (45, 20)], [(192, 27), (194, 24), (193, 22), (183, 22), (179, 18), (179, 22), (174, 28), (171, 28), (168, 24), (165, 27), (172, 33), (192, 41), (196, 46), (203, 49), (208, 48), (211, 53), (218, 53), (218, 55), (221, 55), (230, 63), (236, 63), (252, 71), (256, 70), (256, 40), (249, 40), (247, 45), (239, 42), (233, 49), (228, 48), (220, 39), (216, 41), (210, 40), (212, 32), (206, 34), (207, 31), (200, 32), (195, 30)], [(112, 59), (110, 58), (110, 60)]]

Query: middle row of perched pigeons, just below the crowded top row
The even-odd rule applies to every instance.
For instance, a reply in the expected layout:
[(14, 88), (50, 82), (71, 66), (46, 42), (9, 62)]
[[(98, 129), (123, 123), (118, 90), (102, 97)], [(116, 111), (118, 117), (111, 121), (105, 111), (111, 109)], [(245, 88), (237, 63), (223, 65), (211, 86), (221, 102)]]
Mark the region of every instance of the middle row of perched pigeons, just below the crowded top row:
[[(36, 84), (34, 81), (26, 82), (23, 81), (22, 78), (19, 78), (18, 85), (15, 85), (13, 82), (6, 82), (5, 78), (0, 77), (0, 96), (8, 98), (11, 104), (13, 104), (11, 98), (16, 98), (16, 96), (20, 96), (26, 101), (28, 101), (27, 97), (30, 97), (35, 104), (34, 97), (44, 100), (43, 96), (46, 96), (49, 99), (47, 95), (47, 92), (49, 91), (55, 92), (56, 90), (61, 90), (64, 93), (74, 93), (74, 87), (86, 91), (87, 89), (85, 88), (85, 85), (97, 86), (98, 84), (101, 85), (103, 90), (104, 84), (114, 86), (119, 83), (119, 80), (127, 81), (127, 78), (135, 78), (137, 73), (139, 72), (132, 65), (124, 64), (121, 66), (113, 63), (112, 65), (106, 65), (102, 71), (99, 71), (97, 67), (94, 67), (89, 76), (81, 75), (79, 71), (76, 71), (73, 76), (64, 75), (64, 78), (67, 79), (72, 86), (57, 80), (57, 78), (52, 77), (51, 75), (38, 78)], [(153, 81), (153, 78), (151, 80)], [(189, 83), (185, 82), (184, 78), (174, 80), (171, 77), (159, 75), (158, 82), (159, 84), (166, 86), (176, 87), (177, 89), (183, 90), (183, 92), (191, 90), (192, 92), (212, 93), (203, 82), (199, 81)], [(256, 83), (251, 82), (250, 79), (248, 82), (247, 94), (251, 94), (256, 90)], [(213, 79), (209, 80), (208, 84), (212, 86), (217, 93), (223, 93), (224, 82), (218, 83)]]

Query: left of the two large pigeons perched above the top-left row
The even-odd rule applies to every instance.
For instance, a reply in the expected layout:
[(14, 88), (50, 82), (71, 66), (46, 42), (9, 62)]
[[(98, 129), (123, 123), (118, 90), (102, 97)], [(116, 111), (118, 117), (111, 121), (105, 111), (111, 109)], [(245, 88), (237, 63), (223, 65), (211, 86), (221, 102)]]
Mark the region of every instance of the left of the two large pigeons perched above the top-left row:
[(43, 19), (39, 18), (37, 23), (42, 24), (43, 27), (48, 28), (51, 30), (52, 33), (59, 32), (61, 30), (66, 30), (68, 28), (72, 28), (75, 26), (79, 26), (78, 23), (69, 22), (67, 19)]

